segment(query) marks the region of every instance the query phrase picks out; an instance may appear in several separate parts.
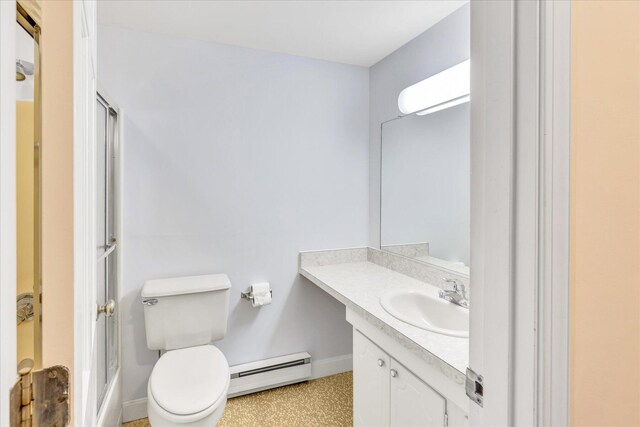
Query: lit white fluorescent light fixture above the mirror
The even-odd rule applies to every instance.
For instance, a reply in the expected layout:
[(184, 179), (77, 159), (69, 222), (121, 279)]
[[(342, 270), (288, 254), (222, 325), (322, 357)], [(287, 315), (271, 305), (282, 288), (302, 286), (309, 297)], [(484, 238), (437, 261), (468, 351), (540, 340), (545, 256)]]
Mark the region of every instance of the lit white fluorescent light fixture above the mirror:
[(471, 67), (467, 59), (400, 92), (398, 108), (403, 114), (429, 114), (469, 101), (470, 92)]

